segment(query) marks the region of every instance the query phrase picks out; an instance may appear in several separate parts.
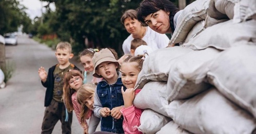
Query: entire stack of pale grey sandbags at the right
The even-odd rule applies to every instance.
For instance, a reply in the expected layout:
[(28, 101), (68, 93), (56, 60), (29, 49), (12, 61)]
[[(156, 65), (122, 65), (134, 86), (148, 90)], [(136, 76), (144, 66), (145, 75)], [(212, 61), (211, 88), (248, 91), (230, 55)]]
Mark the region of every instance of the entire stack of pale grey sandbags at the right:
[[(169, 44), (144, 61), (134, 99), (144, 133), (251, 133), (256, 128), (256, 1), (197, 0)], [(150, 129), (147, 129), (150, 128)]]

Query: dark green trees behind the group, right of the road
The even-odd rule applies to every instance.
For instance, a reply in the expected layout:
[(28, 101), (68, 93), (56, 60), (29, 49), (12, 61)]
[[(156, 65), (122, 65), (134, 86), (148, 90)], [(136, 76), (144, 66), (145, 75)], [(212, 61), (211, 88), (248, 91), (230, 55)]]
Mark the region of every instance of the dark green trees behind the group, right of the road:
[[(56, 7), (55, 12), (44, 15), (47, 18), (44, 22), (49, 22), (47, 23), (49, 29), (55, 31), (62, 41), (74, 41), (72, 44), (75, 52), (87, 47), (110, 47), (119, 54), (122, 52), (124, 39), (129, 36), (120, 18), (125, 10), (136, 9), (142, 2), (142, 0), (42, 1), (54, 3)], [(178, 0), (172, 2), (177, 4)], [(88, 41), (87, 44), (85, 39)]]

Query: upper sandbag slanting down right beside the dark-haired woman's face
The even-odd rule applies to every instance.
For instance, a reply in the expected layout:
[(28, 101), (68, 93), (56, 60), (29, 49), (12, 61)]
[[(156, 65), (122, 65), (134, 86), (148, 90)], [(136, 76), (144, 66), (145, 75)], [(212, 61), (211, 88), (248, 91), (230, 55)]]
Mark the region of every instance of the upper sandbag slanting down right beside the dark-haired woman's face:
[[(194, 25), (199, 21), (206, 20), (207, 17), (215, 20), (228, 19), (225, 14), (215, 8), (214, 0), (197, 0), (186, 6), (177, 20), (177, 26), (171, 36), (169, 45), (185, 41)], [(205, 24), (204, 27), (207, 28), (207, 26), (219, 23), (218, 21), (212, 22), (213, 19), (206, 20), (205, 23), (209, 24)]]

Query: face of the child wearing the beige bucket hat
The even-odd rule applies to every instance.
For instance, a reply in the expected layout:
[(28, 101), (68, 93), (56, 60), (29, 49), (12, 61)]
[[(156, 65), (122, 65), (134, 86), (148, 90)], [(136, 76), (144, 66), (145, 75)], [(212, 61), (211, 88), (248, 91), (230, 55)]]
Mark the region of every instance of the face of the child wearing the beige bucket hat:
[(115, 62), (102, 62), (97, 66), (96, 73), (101, 75), (103, 78), (111, 80), (115, 75), (117, 75), (118, 65)]

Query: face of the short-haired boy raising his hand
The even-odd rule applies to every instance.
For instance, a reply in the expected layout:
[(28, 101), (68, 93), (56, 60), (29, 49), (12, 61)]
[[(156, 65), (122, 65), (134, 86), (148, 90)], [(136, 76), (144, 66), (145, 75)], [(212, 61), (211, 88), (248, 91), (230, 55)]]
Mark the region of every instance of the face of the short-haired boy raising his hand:
[(69, 53), (68, 49), (57, 49), (55, 52), (55, 56), (61, 65), (65, 65), (69, 62), (74, 55), (73, 53)]

